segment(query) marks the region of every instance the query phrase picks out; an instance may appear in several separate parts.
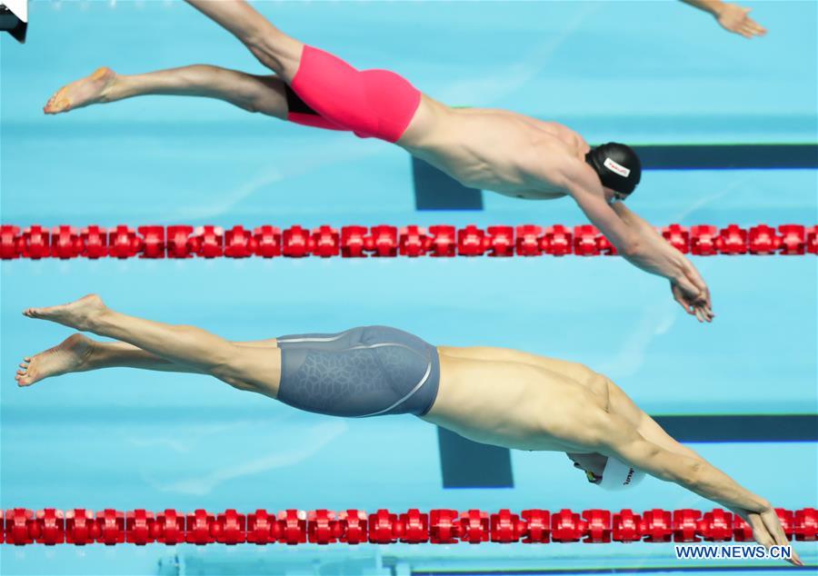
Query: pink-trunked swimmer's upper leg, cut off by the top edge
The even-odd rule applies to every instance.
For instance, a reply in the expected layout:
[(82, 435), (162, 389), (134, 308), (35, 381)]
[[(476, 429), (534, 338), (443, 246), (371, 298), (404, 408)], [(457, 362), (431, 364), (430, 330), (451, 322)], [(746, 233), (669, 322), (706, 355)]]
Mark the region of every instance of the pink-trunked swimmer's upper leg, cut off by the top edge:
[(202, 14), (238, 38), (259, 62), (287, 82), (293, 81), (304, 44), (276, 28), (246, 2), (187, 0)]

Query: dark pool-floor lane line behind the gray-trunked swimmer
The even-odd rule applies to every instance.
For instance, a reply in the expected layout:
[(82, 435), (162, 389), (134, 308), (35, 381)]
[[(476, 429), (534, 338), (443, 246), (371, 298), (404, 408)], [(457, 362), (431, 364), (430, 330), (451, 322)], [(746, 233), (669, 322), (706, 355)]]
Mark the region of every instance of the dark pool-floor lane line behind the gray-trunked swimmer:
[[(679, 442), (818, 442), (818, 415), (653, 416)], [(511, 452), (437, 429), (444, 488), (514, 488)]]

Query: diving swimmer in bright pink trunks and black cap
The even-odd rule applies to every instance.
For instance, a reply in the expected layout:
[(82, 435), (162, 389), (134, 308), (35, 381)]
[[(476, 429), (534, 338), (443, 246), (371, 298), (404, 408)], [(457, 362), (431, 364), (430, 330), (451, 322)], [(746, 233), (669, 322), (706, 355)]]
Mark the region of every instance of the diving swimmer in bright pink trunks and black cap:
[(624, 204), (642, 176), (625, 144), (591, 147), (563, 124), (492, 108), (453, 108), (386, 70), (357, 70), (304, 45), (245, 2), (188, 0), (235, 35), (274, 74), (192, 65), (148, 74), (107, 67), (45, 104), (65, 113), (146, 94), (202, 96), (249, 112), (396, 144), (464, 186), (528, 200), (571, 197), (628, 262), (670, 281), (673, 299), (713, 321), (710, 290), (693, 263)]

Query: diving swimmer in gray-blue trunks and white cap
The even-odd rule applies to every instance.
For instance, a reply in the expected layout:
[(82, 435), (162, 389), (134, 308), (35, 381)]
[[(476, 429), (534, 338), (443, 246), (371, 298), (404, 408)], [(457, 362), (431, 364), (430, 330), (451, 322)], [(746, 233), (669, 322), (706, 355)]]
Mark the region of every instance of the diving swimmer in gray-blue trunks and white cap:
[[(412, 414), (474, 442), (565, 452), (588, 482), (634, 488), (645, 473), (719, 502), (763, 546), (787, 545), (773, 505), (676, 442), (621, 388), (583, 364), (494, 347), (434, 346), (386, 326), (230, 342), (195, 326), (119, 313), (89, 294), (25, 316), (82, 333), (26, 357), (27, 387), (105, 368), (198, 373), (306, 412), (364, 418)], [(502, 385), (498, 385), (502, 384)], [(791, 562), (802, 565), (793, 552)]]

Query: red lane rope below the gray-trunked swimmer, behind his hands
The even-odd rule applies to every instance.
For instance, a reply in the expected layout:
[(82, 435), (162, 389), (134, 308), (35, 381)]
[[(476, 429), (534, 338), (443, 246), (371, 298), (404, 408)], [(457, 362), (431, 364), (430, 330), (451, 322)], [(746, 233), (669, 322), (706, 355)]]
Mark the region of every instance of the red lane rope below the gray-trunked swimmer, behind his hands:
[[(776, 508), (788, 539), (815, 541), (818, 511)], [(753, 541), (750, 526), (732, 512), (653, 509), (642, 514), (632, 510), (569, 509), (549, 512), (507, 509), (489, 513), (480, 510), (435, 509), (402, 513), (378, 510), (264, 510), (244, 514), (235, 510), (182, 512), (168, 509), (60, 511), (54, 508), (31, 511), (25, 508), (0, 511), (0, 541), (23, 546), (101, 543), (107, 545), (164, 544), (273, 544), (295, 545), (346, 543), (454, 544), (493, 541), (500, 543), (577, 542), (695, 542)]]

